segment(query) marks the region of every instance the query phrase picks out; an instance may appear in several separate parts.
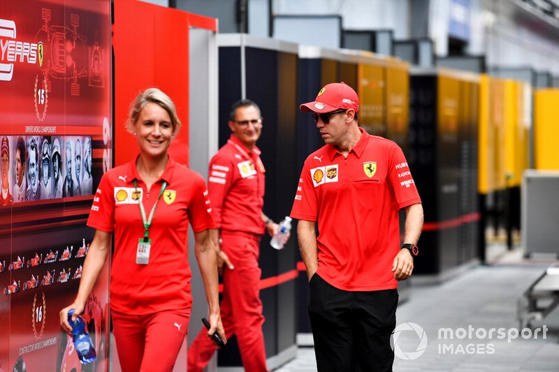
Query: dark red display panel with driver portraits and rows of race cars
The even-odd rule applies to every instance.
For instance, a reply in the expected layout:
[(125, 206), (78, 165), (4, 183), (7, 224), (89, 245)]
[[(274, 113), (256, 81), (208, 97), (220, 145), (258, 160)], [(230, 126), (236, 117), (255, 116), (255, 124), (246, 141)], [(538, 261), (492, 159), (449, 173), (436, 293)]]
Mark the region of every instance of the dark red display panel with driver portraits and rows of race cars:
[[(109, 0), (0, 0), (0, 371), (82, 371), (58, 312), (112, 163), (110, 56)], [(106, 371), (108, 267), (85, 318)]]

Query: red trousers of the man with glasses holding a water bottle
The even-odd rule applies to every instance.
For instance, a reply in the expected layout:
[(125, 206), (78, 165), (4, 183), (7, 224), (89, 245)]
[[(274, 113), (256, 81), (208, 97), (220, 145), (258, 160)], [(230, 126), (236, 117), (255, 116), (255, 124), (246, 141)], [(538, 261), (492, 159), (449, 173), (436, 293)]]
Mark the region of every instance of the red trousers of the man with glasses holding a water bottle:
[[(260, 236), (243, 232), (223, 232), (221, 249), (235, 269), (224, 268), (223, 299), (220, 304), (226, 337), (237, 337), (246, 372), (266, 372), (266, 350), (259, 297), (261, 269), (258, 267)], [(208, 364), (217, 346), (201, 329), (188, 350), (188, 371), (199, 372)]]

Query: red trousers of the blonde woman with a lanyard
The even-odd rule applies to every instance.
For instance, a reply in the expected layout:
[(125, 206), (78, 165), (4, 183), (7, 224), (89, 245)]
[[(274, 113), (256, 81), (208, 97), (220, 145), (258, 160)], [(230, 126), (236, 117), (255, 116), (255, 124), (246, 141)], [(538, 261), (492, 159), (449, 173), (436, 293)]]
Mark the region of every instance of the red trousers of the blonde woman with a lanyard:
[(188, 331), (190, 309), (129, 315), (112, 311), (122, 372), (171, 372)]

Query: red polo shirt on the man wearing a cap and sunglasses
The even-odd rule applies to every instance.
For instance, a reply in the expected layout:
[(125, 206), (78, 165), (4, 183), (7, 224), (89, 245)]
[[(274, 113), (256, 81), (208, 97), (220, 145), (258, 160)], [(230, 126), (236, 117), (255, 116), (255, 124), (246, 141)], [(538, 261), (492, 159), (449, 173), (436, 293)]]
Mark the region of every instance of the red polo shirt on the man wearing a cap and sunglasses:
[(310, 154), (291, 217), (318, 221), (317, 273), (325, 281), (349, 291), (396, 288), (398, 210), (421, 199), (402, 149), (359, 130), (347, 158), (331, 144)]

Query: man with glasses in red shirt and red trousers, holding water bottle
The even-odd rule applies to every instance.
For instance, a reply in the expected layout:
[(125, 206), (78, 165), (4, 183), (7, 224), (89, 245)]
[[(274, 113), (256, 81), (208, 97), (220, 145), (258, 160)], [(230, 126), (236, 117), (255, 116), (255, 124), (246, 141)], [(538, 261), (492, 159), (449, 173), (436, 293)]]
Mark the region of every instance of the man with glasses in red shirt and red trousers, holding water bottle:
[[(208, 172), (212, 217), (219, 229), (212, 230), (212, 239), (221, 250), (218, 265), (219, 258), (226, 260), (222, 322), (227, 338), (237, 336), (247, 372), (267, 371), (258, 258), (263, 232), (273, 236), (278, 229), (262, 211), (266, 170), (256, 147), (262, 120), (256, 103), (234, 103), (228, 123), (231, 137), (210, 161)], [(188, 371), (202, 371), (216, 348), (202, 329), (189, 348)]]

